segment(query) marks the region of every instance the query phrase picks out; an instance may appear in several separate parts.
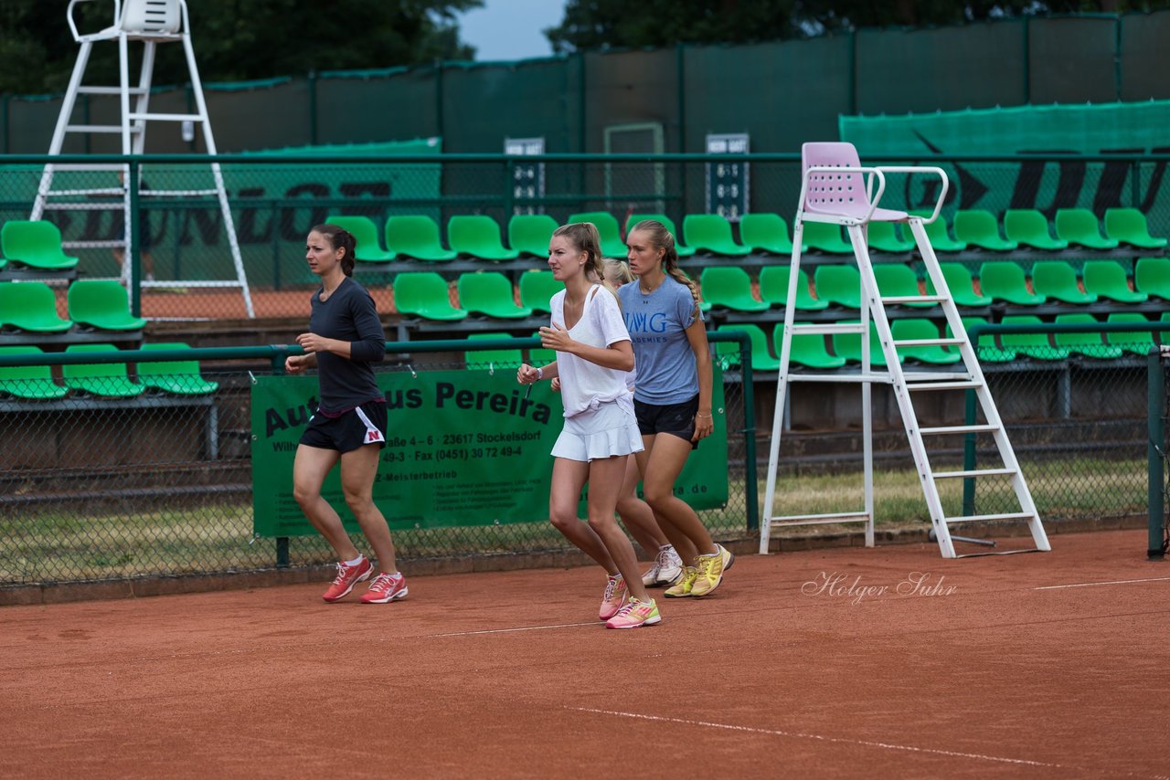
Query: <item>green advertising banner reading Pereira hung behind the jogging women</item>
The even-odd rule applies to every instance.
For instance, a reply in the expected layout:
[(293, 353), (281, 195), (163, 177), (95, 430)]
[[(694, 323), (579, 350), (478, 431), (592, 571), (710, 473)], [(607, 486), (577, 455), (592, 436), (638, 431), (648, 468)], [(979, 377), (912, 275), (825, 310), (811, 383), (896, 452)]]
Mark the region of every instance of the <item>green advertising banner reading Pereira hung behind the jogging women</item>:
[[(535, 523), (549, 517), (550, 451), (560, 434), (560, 396), (549, 382), (530, 396), (511, 371), (385, 372), (388, 430), (373, 498), (394, 530)], [(316, 410), (316, 377), (257, 377), (252, 386), (253, 527), (257, 536), (316, 533), (292, 498), (292, 461)], [(713, 407), (723, 408), (716, 368)], [(728, 499), (727, 424), (687, 460), (675, 492), (695, 509)], [(338, 469), (325, 501), (357, 531)], [(584, 517), (584, 506), (583, 506)]]

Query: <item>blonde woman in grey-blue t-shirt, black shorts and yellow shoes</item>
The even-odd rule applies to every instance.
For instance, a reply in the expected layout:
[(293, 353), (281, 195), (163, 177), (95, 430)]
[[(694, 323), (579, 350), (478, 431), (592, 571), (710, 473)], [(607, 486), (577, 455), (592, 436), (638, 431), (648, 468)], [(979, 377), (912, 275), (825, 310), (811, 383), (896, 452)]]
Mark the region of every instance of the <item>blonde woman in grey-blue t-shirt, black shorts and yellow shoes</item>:
[(634, 346), (634, 413), (645, 450), (638, 454), (646, 503), (688, 562), (667, 598), (704, 596), (735, 557), (711, 540), (698, 515), (674, 495), (674, 483), (698, 441), (711, 434), (711, 354), (694, 283), (679, 268), (674, 236), (644, 220), (626, 236), (636, 281), (618, 290)]

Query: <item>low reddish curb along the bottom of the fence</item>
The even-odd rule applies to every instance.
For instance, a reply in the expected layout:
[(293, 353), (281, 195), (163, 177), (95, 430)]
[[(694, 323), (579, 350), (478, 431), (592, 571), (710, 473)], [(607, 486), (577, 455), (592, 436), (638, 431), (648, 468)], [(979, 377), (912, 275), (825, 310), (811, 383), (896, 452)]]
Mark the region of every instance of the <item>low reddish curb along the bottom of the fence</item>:
[[(1129, 517), (1110, 517), (1101, 519), (1053, 520), (1045, 523), (1049, 536), (1060, 533), (1085, 533), (1089, 531), (1116, 531), (1145, 529), (1148, 518), (1143, 515)], [(879, 529), (875, 534), (878, 545), (888, 544), (923, 544), (929, 541), (927, 525), (906, 529)], [(1026, 536), (1027, 526), (979, 527), (975, 524), (964, 525), (959, 533), (982, 537)], [(758, 537), (738, 539), (721, 539), (727, 548), (737, 555), (755, 554), (759, 550)], [(934, 543), (930, 543), (934, 544)], [(865, 534), (861, 530), (825, 532), (801, 529), (773, 536), (770, 551), (796, 552), (824, 547), (861, 547)], [(1137, 555), (1141, 551), (1135, 552)], [(429, 558), (402, 560), (404, 568), (411, 577), (433, 574), (468, 574), (473, 572), (500, 572), (519, 568), (565, 568), (586, 566), (592, 561), (577, 551), (551, 551), (538, 553), (516, 553), (497, 555), (475, 555), (467, 558)], [(48, 585), (18, 585), (0, 587), (0, 607), (15, 605), (48, 605), (68, 601), (91, 601), (99, 599), (137, 599), (143, 596), (172, 595), (178, 593), (206, 593), (213, 591), (239, 591), (246, 588), (270, 587), (274, 585), (298, 585), (303, 582), (328, 582), (336, 570), (328, 566), (303, 566), (295, 568), (266, 568), (249, 572), (228, 572), (218, 574), (191, 574), (181, 577), (146, 577), (125, 580), (103, 580), (99, 582), (54, 582)]]

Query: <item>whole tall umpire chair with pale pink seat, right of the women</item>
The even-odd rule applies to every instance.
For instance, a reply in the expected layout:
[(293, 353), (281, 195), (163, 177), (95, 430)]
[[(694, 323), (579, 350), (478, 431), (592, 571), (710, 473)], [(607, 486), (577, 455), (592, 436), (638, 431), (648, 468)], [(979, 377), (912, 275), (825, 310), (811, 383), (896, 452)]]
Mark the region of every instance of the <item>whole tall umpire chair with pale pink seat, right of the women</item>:
[[(796, 525), (817, 525), (862, 522), (866, 524), (866, 546), (874, 544), (874, 491), (873, 491), (873, 412), (870, 388), (874, 382), (888, 384), (893, 387), (899, 412), (910, 442), (910, 451), (922, 483), (922, 491), (930, 512), (932, 536), (938, 541), (938, 548), (944, 558), (957, 558), (955, 540), (950, 526), (959, 523), (979, 522), (1026, 522), (1035, 544), (1034, 550), (1048, 551), (1047, 536), (1037, 513), (1035, 504), (1028, 491), (1019, 463), (1012, 450), (1011, 442), (1004, 432), (1003, 421), (996, 409), (987, 382), (979, 361), (966, 337), (966, 330), (959, 319), (955, 299), (947, 287), (947, 279), (938, 267), (930, 240), (927, 237), (925, 225), (938, 218), (943, 201), (947, 198), (949, 181), (947, 173), (938, 167), (909, 166), (862, 166), (853, 144), (846, 143), (810, 143), (801, 150), (803, 178), (800, 182), (800, 201), (797, 206), (792, 235), (792, 265), (790, 268), (789, 299), (784, 311), (784, 337), (779, 345), (780, 368), (776, 386), (776, 408), (772, 415), (772, 440), (768, 458), (768, 488), (764, 492), (764, 506), (760, 512), (759, 552), (766, 553), (771, 533), (776, 529)], [(887, 174), (931, 175), (940, 179), (941, 186), (937, 200), (929, 218), (915, 216), (903, 210), (882, 208), (880, 206), (886, 192)], [(860, 276), (861, 316), (860, 322), (838, 324), (796, 325), (797, 288), (800, 274), (800, 246), (805, 222), (827, 222), (845, 227), (853, 246), (854, 260)], [(867, 228), (870, 222), (903, 222), (909, 226), (917, 244), (918, 254), (936, 294), (883, 296), (878, 288), (873, 263), (869, 258)], [(894, 339), (890, 332), (887, 305), (930, 304), (938, 306), (949, 325), (947, 338)], [(916, 316), (923, 316), (930, 309), (916, 309)], [(852, 317), (851, 317), (852, 319)], [(869, 354), (870, 320), (873, 331), (881, 345), (886, 359), (883, 371), (874, 371)], [(838, 370), (832, 373), (791, 373), (791, 352), (793, 336), (801, 333), (856, 333), (861, 341), (861, 370), (851, 372)], [(945, 368), (928, 370), (910, 368), (899, 360), (900, 347), (936, 346), (957, 350), (962, 364)], [(958, 370), (962, 365), (962, 370)], [(863, 437), (865, 469), (865, 508), (858, 512), (834, 512), (821, 515), (775, 515), (777, 478), (779, 469), (780, 435), (784, 428), (785, 409), (789, 406), (789, 385), (796, 381), (812, 382), (855, 382), (861, 385), (861, 412)], [(956, 421), (954, 424), (922, 427), (917, 422), (913, 398), (927, 393), (973, 393), (977, 401), (978, 416)], [(955, 408), (962, 405), (942, 405), (942, 408)], [(940, 437), (962, 435), (975, 437), (991, 436), (999, 453), (1000, 463), (996, 468), (935, 470), (931, 465), (931, 453), (927, 442), (937, 442)], [(935, 448), (937, 451), (937, 448)], [(944, 479), (962, 479), (964, 486), (976, 478), (1007, 479), (1019, 505), (1019, 511), (997, 512), (987, 515), (952, 515), (943, 511), (938, 483)], [(1023, 551), (1013, 551), (1023, 552)]]

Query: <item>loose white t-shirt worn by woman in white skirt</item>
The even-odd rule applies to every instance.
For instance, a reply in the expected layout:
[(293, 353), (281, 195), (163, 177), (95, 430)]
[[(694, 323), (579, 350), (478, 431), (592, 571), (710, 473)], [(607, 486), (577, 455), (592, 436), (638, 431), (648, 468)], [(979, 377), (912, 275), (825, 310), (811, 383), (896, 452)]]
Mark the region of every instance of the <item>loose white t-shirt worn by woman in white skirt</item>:
[[(564, 327), (564, 290), (552, 296), (549, 308), (552, 309), (552, 323)], [(569, 337), (587, 346), (603, 348), (618, 341), (628, 341), (629, 332), (621, 318), (617, 298), (598, 284), (590, 288), (585, 295), (581, 318), (569, 329)], [(625, 371), (606, 368), (569, 352), (558, 352), (557, 373), (560, 375), (560, 401), (566, 417), (597, 410), (603, 403), (614, 401), (633, 414), (634, 401), (626, 386)]]

